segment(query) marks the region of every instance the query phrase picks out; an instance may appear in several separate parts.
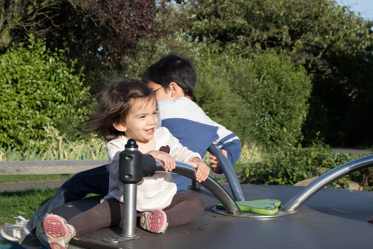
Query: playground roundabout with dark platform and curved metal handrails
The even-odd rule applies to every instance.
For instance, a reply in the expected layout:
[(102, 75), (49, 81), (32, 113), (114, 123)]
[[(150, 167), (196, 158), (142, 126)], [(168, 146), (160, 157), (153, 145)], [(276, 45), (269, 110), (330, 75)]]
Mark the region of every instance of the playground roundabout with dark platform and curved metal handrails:
[[(141, 229), (138, 222), (132, 222), (135, 209), (125, 205), (125, 201), (125, 226), (101, 228), (75, 237), (69, 248), (372, 248), (373, 224), (367, 219), (373, 215), (373, 192), (325, 187), (343, 175), (370, 166), (373, 166), (373, 155), (340, 165), (306, 187), (237, 185), (232, 179), (229, 185), (221, 186), (209, 177), (201, 188), (188, 190), (200, 194), (205, 201), (205, 209), (196, 220), (167, 228), (164, 234), (150, 233)], [(162, 170), (157, 163), (156, 171)], [(179, 162), (174, 171), (189, 178), (194, 174), (189, 165)], [(131, 199), (136, 184), (127, 183), (123, 187)], [(99, 203), (101, 197), (66, 203), (51, 212), (69, 220)], [(236, 204), (235, 200), (242, 198), (245, 201), (274, 199), (281, 205), (276, 214), (252, 214), (242, 212)], [(222, 203), (225, 209), (216, 208), (217, 203)], [(37, 234), (48, 247), (41, 224)]]

